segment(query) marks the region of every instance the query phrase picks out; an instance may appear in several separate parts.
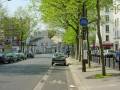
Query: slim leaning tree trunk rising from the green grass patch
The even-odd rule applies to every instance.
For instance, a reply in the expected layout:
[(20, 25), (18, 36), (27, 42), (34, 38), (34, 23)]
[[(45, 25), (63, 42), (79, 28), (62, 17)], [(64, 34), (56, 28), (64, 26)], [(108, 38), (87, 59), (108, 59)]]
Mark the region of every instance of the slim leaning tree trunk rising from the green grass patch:
[(96, 9), (97, 9), (97, 35), (98, 35), (100, 51), (101, 51), (100, 53), (101, 53), (101, 62), (102, 62), (102, 75), (105, 76), (106, 69), (105, 69), (105, 65), (104, 65), (102, 38), (101, 38), (101, 33), (100, 33), (100, 0), (97, 0)]

